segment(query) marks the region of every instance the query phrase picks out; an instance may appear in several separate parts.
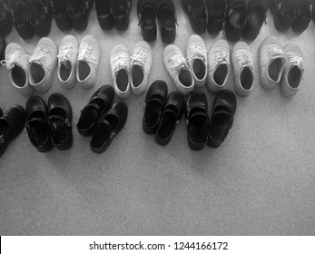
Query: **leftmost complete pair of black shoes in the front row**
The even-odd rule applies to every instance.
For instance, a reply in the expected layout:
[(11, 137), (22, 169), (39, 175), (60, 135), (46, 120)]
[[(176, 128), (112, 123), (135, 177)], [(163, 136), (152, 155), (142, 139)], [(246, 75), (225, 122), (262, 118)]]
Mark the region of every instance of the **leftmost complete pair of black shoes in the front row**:
[(25, 110), (27, 136), (37, 151), (51, 151), (54, 146), (64, 151), (73, 145), (73, 112), (64, 95), (52, 93), (48, 105), (33, 95), (27, 100)]

